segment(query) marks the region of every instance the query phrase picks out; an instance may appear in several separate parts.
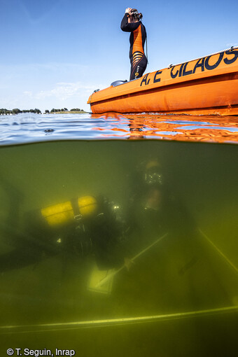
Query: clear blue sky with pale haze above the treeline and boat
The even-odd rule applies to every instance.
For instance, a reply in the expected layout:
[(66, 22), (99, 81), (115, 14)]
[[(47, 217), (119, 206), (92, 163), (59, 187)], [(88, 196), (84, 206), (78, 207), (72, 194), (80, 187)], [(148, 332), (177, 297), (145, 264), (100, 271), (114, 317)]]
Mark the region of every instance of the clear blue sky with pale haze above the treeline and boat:
[(94, 90), (129, 80), (127, 7), (143, 14), (145, 73), (238, 45), (237, 0), (130, 1), (0, 0), (0, 109), (90, 111)]

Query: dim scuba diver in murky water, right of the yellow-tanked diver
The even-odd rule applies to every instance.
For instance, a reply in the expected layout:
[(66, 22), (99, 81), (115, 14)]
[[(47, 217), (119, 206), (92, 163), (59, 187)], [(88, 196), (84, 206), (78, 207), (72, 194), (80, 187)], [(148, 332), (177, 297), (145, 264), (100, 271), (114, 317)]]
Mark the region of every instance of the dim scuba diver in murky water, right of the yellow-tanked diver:
[(170, 241), (183, 241), (187, 246), (193, 241), (195, 222), (167, 181), (157, 158), (141, 162), (132, 174), (127, 206), (127, 226), (130, 228), (127, 258), (162, 235), (169, 235)]

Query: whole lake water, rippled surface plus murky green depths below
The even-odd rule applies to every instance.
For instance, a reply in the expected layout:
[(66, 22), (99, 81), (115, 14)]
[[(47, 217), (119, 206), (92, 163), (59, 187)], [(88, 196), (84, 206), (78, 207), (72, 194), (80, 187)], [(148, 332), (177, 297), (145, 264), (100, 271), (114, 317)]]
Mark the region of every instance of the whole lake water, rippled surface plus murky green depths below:
[(1, 355), (235, 356), (237, 124), (1, 116)]

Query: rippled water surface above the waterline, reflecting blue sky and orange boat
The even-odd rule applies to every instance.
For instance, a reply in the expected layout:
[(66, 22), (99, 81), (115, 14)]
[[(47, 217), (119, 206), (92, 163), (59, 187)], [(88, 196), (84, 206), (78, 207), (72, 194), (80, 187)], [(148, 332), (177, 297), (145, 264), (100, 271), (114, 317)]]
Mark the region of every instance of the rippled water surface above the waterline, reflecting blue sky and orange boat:
[(0, 143), (78, 139), (163, 139), (237, 143), (237, 116), (19, 114), (0, 117)]

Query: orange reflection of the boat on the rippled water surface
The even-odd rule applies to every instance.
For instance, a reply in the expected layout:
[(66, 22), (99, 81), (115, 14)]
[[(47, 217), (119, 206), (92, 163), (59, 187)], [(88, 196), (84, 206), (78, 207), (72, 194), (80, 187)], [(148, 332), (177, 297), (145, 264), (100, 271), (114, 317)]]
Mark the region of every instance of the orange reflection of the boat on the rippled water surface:
[[(106, 113), (104, 116), (92, 115), (92, 118), (113, 120), (111, 132), (102, 133), (103, 137), (122, 137), (127, 139), (165, 139), (178, 141), (205, 141), (218, 143), (236, 143), (237, 117), (219, 116), (173, 116), (156, 114), (122, 115)], [(94, 130), (101, 130), (94, 127)], [(104, 129), (103, 129), (104, 131)]]

